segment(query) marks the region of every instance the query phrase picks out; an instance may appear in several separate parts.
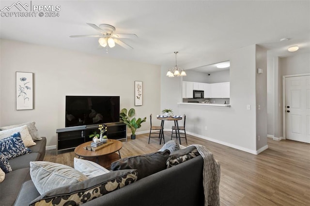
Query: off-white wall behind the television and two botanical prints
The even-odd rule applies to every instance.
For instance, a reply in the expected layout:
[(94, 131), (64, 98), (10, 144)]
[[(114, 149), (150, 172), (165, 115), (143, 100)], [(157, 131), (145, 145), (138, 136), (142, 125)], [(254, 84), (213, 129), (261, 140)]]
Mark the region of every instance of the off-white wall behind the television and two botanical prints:
[[(0, 125), (35, 121), (47, 146), (64, 127), (66, 95), (120, 96), (121, 108), (147, 117), (137, 132), (149, 131), (149, 114), (160, 111), (160, 66), (75, 51), (1, 40)], [(34, 109), (15, 108), (15, 73), (34, 73)], [(134, 81), (143, 82), (143, 105), (134, 106)], [(128, 131), (130, 132), (130, 130)]]

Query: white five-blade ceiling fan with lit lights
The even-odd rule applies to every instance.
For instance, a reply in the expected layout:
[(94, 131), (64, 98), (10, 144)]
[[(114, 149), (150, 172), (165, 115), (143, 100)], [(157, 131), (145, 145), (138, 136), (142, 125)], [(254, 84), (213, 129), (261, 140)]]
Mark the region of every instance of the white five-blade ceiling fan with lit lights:
[(116, 33), (114, 33), (115, 27), (113, 27), (112, 25), (109, 25), (109, 24), (100, 24), (99, 26), (96, 26), (96, 25), (91, 24), (91, 23), (87, 23), (87, 24), (89, 26), (93, 27), (94, 29), (96, 29), (97, 31), (99, 31), (101, 34), (98, 34), (98, 35), (73, 35), (70, 37), (72, 37), (72, 38), (75, 38), (75, 37), (100, 37), (98, 42), (103, 47), (106, 47), (107, 45), (109, 45), (109, 47), (112, 48), (115, 46), (115, 43), (116, 43), (116, 44), (119, 44), (120, 46), (122, 46), (128, 50), (133, 49), (133, 47), (131, 47), (128, 44), (125, 44), (124, 42), (122, 42), (119, 39), (138, 38), (138, 36), (136, 34), (116, 34)]

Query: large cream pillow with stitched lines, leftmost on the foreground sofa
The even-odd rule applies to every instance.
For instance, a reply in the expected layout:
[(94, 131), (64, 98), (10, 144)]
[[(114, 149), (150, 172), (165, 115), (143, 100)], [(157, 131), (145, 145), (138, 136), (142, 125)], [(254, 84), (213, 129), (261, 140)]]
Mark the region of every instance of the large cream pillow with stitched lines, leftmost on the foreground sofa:
[(30, 162), (30, 176), (40, 194), (87, 179), (72, 167), (54, 162)]

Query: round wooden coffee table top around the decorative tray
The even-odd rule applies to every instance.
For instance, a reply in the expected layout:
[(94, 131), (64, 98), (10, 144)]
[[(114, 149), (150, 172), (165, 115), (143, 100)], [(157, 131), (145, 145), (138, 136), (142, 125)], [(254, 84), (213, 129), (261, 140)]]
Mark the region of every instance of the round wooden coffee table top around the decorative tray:
[(112, 141), (113, 144), (99, 149), (97, 151), (86, 150), (83, 147), (90, 146), (91, 142), (85, 142), (74, 149), (74, 153), (80, 157), (99, 157), (112, 154), (119, 151), (123, 147), (123, 143), (119, 140), (108, 139), (108, 142)]

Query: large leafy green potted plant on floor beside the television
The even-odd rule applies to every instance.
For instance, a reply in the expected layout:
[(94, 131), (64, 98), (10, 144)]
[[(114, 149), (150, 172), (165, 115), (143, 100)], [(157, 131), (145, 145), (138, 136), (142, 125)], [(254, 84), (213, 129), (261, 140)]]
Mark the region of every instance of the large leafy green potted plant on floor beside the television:
[(141, 127), (141, 123), (145, 122), (146, 117), (141, 118), (133, 118), (136, 115), (136, 110), (134, 108), (129, 109), (127, 114), (127, 109), (122, 109), (120, 113), (120, 117), (124, 121), (124, 123), (130, 128), (131, 130), (131, 139), (136, 139), (136, 130)]

